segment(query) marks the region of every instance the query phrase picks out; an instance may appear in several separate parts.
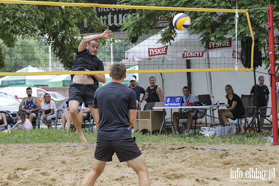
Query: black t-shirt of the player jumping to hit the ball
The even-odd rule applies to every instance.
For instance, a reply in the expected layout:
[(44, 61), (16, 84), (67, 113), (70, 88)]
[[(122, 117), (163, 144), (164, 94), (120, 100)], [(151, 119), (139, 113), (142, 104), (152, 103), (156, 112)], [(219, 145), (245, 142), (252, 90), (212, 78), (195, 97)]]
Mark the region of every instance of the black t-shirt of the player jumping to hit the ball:
[[(87, 48), (84, 51), (77, 50), (76, 59), (73, 62), (72, 71), (83, 71), (84, 69), (88, 69), (90, 71), (101, 71), (104, 70), (103, 61), (97, 58), (96, 55), (90, 55)], [(73, 81), (74, 74), (71, 74), (71, 78)], [(95, 84), (99, 86), (99, 82), (93, 76), (91, 76), (94, 80)]]

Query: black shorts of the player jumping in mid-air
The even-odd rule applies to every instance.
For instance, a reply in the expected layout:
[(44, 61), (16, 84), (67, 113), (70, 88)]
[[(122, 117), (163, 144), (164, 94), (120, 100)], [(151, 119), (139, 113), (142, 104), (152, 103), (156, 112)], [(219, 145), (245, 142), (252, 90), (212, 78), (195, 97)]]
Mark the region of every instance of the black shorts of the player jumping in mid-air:
[(92, 105), (97, 88), (98, 86), (95, 84), (71, 83), (69, 88), (69, 99), (66, 103), (68, 104), (70, 100), (75, 100), (80, 102), (80, 106), (83, 102), (85, 107)]

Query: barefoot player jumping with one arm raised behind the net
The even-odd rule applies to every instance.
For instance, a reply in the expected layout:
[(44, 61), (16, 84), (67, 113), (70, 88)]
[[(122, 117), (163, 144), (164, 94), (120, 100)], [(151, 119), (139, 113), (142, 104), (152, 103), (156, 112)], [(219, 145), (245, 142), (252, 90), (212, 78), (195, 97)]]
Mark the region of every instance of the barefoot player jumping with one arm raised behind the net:
[[(104, 33), (86, 36), (80, 42), (77, 49), (77, 56), (73, 62), (72, 71), (101, 71), (104, 70), (103, 62), (96, 57), (99, 49), (98, 39), (108, 39), (111, 36), (111, 30), (106, 29)], [(82, 121), (78, 116), (78, 107), (82, 102), (89, 107), (94, 115), (92, 108), (94, 93), (98, 88), (99, 82), (105, 83), (104, 74), (75, 74), (71, 75), (72, 82), (69, 88), (69, 110), (74, 126), (77, 129), (82, 145), (87, 146), (87, 140), (82, 132)], [(95, 119), (95, 118), (94, 118)]]

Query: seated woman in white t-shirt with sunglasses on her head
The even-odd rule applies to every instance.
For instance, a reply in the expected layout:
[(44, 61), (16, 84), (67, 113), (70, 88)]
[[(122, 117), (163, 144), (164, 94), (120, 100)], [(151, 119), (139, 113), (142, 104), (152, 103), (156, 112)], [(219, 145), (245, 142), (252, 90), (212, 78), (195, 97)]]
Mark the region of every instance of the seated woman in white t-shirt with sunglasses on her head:
[(51, 100), (51, 95), (46, 93), (44, 95), (44, 100), (42, 102), (42, 122), (51, 129), (51, 119), (56, 117), (57, 108), (55, 106), (55, 102)]

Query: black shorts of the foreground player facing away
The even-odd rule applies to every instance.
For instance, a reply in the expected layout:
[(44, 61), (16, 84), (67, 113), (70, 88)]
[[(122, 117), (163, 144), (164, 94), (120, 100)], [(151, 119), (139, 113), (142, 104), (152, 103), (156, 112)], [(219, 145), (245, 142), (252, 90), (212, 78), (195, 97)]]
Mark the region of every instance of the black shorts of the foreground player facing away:
[(118, 140), (98, 140), (95, 158), (104, 162), (111, 162), (116, 153), (119, 162), (126, 162), (141, 155), (139, 147), (133, 138)]

